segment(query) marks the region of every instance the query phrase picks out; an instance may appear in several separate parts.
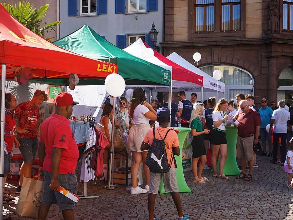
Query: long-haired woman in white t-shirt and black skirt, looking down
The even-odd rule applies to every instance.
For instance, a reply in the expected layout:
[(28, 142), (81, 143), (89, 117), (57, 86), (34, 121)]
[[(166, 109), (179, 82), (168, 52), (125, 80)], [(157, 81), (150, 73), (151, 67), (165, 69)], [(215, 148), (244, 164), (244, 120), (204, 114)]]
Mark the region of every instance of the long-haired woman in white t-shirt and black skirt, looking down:
[[(209, 139), (212, 146), (211, 164), (214, 170), (214, 174), (212, 176), (221, 179), (230, 179), (223, 174), (225, 160), (227, 157), (226, 120), (230, 118), (230, 116), (225, 113), (227, 108), (228, 101), (224, 98), (220, 99), (213, 111), (213, 129), (210, 133)], [(227, 124), (227, 126), (229, 125)], [(219, 150), (221, 153), (221, 159), (219, 161), (219, 173), (217, 173), (217, 157)]]

